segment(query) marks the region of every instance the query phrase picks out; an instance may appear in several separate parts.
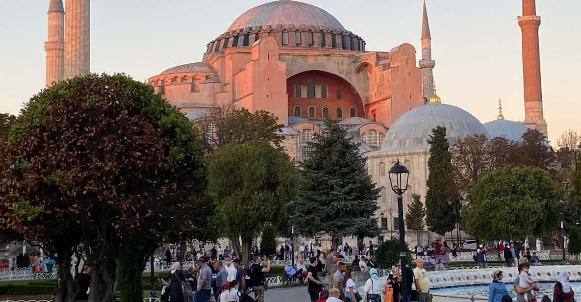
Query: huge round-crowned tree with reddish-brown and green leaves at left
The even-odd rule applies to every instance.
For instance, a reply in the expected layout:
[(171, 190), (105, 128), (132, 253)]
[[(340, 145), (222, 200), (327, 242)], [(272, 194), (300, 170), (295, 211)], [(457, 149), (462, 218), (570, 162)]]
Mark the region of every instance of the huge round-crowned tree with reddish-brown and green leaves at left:
[[(73, 301), (70, 257), (93, 269), (91, 301), (141, 301), (145, 258), (203, 221), (206, 164), (192, 124), (153, 88), (89, 74), (33, 96), (0, 154), (0, 228), (56, 257)], [(193, 205), (193, 206), (192, 206)], [(199, 228), (199, 226), (198, 226)]]

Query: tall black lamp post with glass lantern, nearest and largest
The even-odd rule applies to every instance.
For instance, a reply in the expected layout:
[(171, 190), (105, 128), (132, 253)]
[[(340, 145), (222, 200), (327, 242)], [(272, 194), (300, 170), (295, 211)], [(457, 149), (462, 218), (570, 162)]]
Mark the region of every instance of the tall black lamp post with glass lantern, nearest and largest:
[(399, 235), (400, 235), (400, 260), (401, 260), (401, 297), (402, 301), (407, 302), (407, 246), (406, 246), (406, 231), (403, 224), (403, 193), (407, 190), (407, 182), (410, 179), (410, 171), (405, 166), (400, 164), (399, 159), (397, 163), (389, 169), (389, 183), (392, 190), (397, 195), (397, 213), (399, 220)]

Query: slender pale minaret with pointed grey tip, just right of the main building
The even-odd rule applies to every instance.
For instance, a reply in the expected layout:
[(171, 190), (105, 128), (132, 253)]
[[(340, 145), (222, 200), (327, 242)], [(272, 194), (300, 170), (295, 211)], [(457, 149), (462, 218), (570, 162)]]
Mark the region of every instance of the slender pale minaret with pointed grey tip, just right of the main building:
[(419, 61), (419, 68), (422, 69), (422, 96), (424, 97), (424, 102), (428, 102), (434, 93), (434, 66), (436, 66), (436, 61), (432, 60), (432, 37), (428, 22), (428, 10), (426, 10), (426, 2), (424, 1), (424, 16), (422, 17), (422, 59)]

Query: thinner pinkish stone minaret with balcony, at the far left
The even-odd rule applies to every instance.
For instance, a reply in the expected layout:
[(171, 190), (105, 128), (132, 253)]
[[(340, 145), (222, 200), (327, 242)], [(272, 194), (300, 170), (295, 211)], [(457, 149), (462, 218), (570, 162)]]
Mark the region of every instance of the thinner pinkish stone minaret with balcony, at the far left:
[(48, 39), (46, 51), (46, 86), (64, 77), (64, 8), (62, 0), (51, 0), (48, 5)]

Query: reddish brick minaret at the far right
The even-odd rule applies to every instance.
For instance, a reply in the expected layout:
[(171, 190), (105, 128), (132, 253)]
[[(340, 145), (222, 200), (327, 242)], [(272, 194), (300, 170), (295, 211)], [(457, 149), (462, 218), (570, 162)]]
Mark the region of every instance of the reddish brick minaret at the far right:
[(541, 91), (540, 24), (541, 17), (537, 16), (535, 0), (522, 0), (522, 16), (518, 17), (518, 25), (522, 31), (522, 71), (525, 84), (525, 121), (522, 123), (547, 136)]

